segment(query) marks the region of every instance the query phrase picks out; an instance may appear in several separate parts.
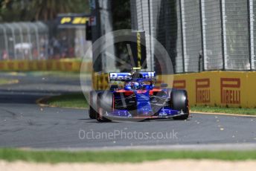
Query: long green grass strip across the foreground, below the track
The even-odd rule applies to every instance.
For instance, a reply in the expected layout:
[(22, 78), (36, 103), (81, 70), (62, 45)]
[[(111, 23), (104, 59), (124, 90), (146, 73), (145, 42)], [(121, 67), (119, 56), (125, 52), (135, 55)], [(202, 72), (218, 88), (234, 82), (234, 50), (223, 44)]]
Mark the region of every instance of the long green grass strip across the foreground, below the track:
[(30, 162), (142, 162), (161, 159), (218, 159), (225, 161), (255, 160), (256, 151), (103, 151), (63, 152), (0, 149), (0, 159)]

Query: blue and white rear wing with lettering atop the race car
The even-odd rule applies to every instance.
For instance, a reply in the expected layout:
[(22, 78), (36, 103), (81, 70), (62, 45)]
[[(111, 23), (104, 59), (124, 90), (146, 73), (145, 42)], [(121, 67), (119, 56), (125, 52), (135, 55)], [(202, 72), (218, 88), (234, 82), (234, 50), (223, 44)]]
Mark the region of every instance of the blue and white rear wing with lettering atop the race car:
[(138, 79), (154, 80), (156, 79), (155, 72), (138, 72), (131, 74), (129, 72), (111, 72), (109, 73), (109, 81), (132, 81)]

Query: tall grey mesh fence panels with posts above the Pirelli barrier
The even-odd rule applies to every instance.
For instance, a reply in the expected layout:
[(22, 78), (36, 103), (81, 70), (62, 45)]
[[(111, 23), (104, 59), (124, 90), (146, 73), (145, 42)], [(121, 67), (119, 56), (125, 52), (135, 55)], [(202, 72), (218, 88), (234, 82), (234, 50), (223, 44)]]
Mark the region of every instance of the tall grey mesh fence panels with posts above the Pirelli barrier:
[(255, 0), (131, 0), (131, 13), (132, 29), (158, 39), (176, 73), (255, 70)]

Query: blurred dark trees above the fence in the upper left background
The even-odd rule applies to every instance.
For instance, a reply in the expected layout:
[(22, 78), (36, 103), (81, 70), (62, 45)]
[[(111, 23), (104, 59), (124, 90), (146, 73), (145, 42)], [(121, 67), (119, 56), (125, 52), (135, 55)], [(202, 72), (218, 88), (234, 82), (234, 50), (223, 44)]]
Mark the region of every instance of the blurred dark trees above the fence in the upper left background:
[(89, 0), (1, 0), (0, 21), (52, 20), (59, 13), (89, 13)]

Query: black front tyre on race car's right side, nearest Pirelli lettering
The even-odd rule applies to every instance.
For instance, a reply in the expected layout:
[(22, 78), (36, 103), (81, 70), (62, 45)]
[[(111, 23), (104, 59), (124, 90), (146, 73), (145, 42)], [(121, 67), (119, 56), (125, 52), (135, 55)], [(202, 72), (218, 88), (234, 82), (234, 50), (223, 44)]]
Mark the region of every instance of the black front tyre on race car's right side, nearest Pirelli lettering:
[(173, 117), (173, 120), (187, 120), (189, 116), (188, 93), (181, 89), (172, 89), (170, 93), (170, 106), (173, 110), (182, 111), (182, 114)]

